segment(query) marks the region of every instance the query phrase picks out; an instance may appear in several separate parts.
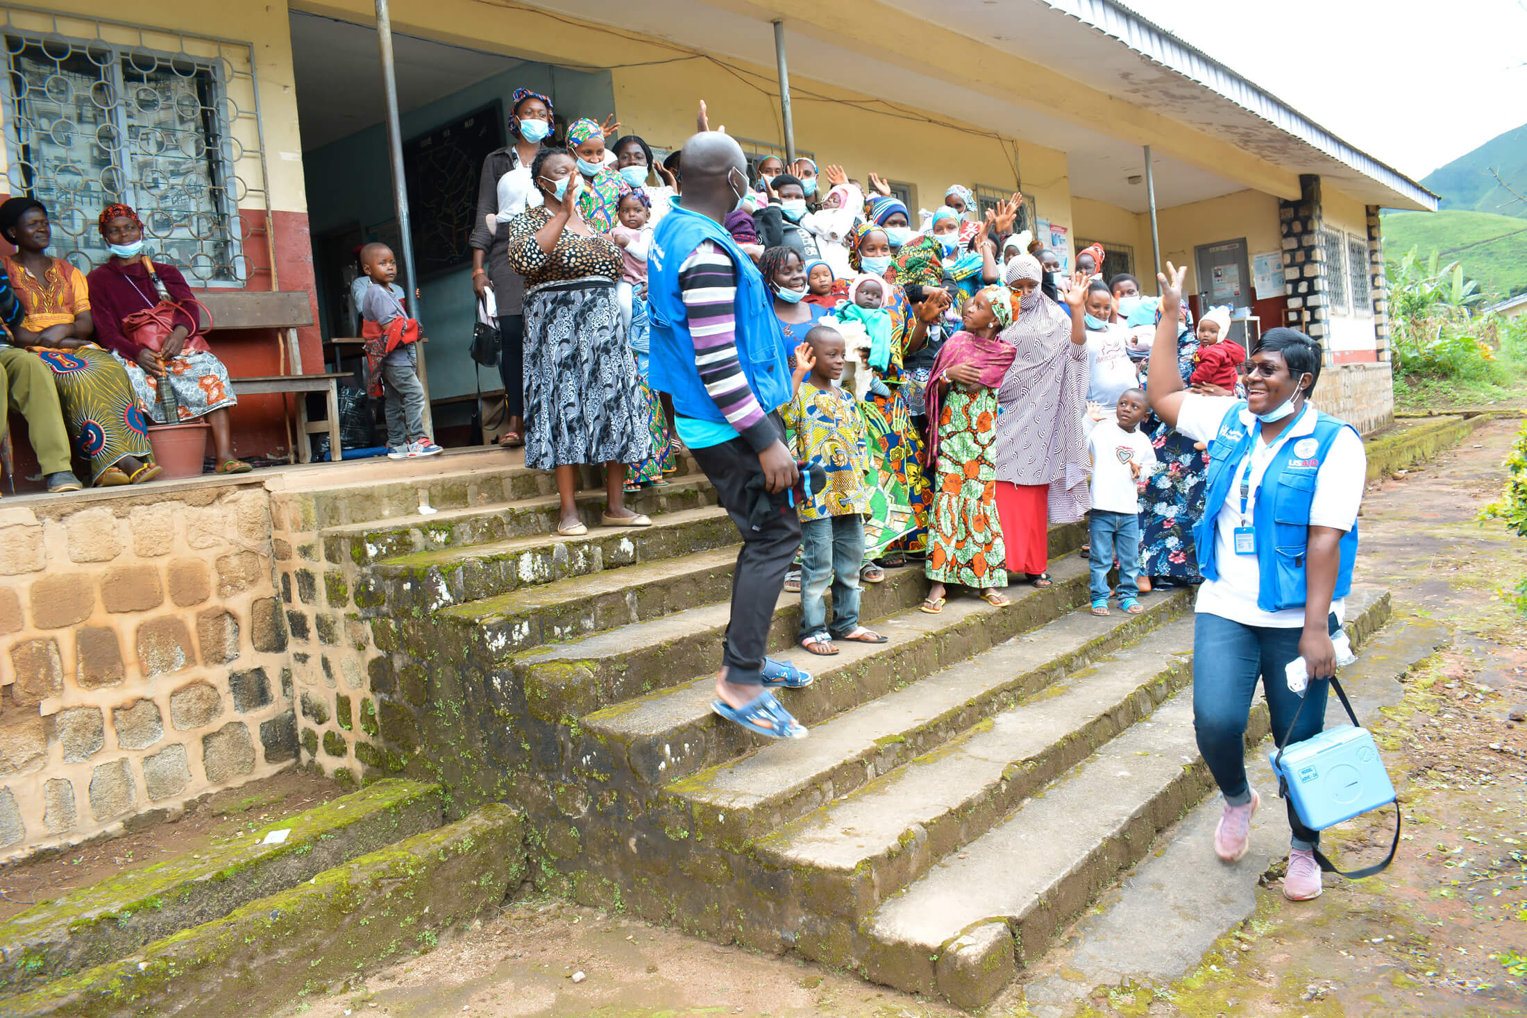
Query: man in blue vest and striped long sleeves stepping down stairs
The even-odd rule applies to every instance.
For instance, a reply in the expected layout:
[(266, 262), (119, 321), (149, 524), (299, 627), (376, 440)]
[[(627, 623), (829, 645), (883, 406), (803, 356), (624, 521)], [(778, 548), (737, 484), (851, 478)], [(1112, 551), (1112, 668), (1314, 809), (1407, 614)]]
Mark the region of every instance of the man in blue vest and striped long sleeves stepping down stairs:
[(765, 656), (800, 546), (789, 498), (800, 475), (776, 412), (791, 397), (789, 354), (764, 276), (722, 227), (748, 195), (747, 160), (699, 110), (699, 133), (680, 153), (681, 195), (647, 259), (652, 388), (673, 397), (680, 438), (742, 531), (712, 710), (770, 739), (800, 739), (806, 730), (765, 688), (811, 684)]

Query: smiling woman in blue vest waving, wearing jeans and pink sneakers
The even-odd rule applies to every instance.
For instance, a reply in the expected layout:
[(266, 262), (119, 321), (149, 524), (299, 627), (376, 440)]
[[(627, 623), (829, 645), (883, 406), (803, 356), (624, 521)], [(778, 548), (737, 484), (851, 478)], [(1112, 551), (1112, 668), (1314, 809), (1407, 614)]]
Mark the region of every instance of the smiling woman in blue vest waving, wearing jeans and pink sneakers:
[[(1283, 740), (1299, 708), (1286, 668), (1304, 658), (1309, 704), (1289, 742), (1312, 737), (1325, 717), (1325, 682), (1336, 673), (1333, 623), (1351, 589), (1358, 507), (1367, 458), (1358, 432), (1310, 406), (1321, 346), (1274, 328), (1246, 365), (1246, 398), (1185, 392), (1177, 374), (1177, 308), (1186, 269), (1157, 275), (1162, 325), (1150, 360), (1150, 404), (1167, 424), (1208, 443), (1208, 495), (1194, 525), (1199, 588), (1193, 639), (1193, 719), (1209, 771), (1225, 795), (1214, 852), (1235, 862), (1251, 847), (1258, 795), (1246, 781), (1243, 736), (1257, 679)], [(1168, 282), (1170, 276), (1170, 282)], [(1281, 745), (1281, 742), (1280, 742)], [(1283, 893), (1321, 893), (1319, 832), (1293, 829)]]

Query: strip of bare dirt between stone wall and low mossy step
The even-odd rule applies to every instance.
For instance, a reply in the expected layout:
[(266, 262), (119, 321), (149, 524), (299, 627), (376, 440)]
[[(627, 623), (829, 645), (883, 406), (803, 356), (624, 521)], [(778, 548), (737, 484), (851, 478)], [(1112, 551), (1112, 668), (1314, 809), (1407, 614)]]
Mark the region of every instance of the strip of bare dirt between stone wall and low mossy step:
[(255, 784), (200, 798), (174, 820), (142, 821), (118, 838), (98, 838), (0, 867), (0, 920), (76, 887), (247, 835), (269, 820), (301, 813), (348, 791), (322, 775), (282, 771)]

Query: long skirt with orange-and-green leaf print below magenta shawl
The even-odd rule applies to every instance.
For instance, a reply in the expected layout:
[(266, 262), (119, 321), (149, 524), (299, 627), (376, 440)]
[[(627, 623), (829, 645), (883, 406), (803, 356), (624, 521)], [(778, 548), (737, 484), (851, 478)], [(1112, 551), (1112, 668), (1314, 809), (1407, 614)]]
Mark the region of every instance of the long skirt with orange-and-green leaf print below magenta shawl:
[(996, 391), (950, 386), (938, 429), (928, 578), (976, 589), (1008, 586), (991, 447), (997, 438)]

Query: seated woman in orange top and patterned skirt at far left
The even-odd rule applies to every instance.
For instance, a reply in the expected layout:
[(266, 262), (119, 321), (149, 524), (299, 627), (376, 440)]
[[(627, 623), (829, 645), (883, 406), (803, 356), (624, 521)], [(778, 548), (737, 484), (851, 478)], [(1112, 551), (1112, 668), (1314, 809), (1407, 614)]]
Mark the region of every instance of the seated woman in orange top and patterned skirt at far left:
[(67, 261), (44, 253), (53, 237), (47, 209), (35, 198), (8, 200), (0, 205), (0, 237), (17, 249), (5, 256), (26, 311), (15, 327), (17, 345), (52, 372), (69, 438), (90, 461), (90, 484), (108, 488), (153, 481), (159, 466), (133, 385), (122, 365), (92, 342), (86, 278)]

